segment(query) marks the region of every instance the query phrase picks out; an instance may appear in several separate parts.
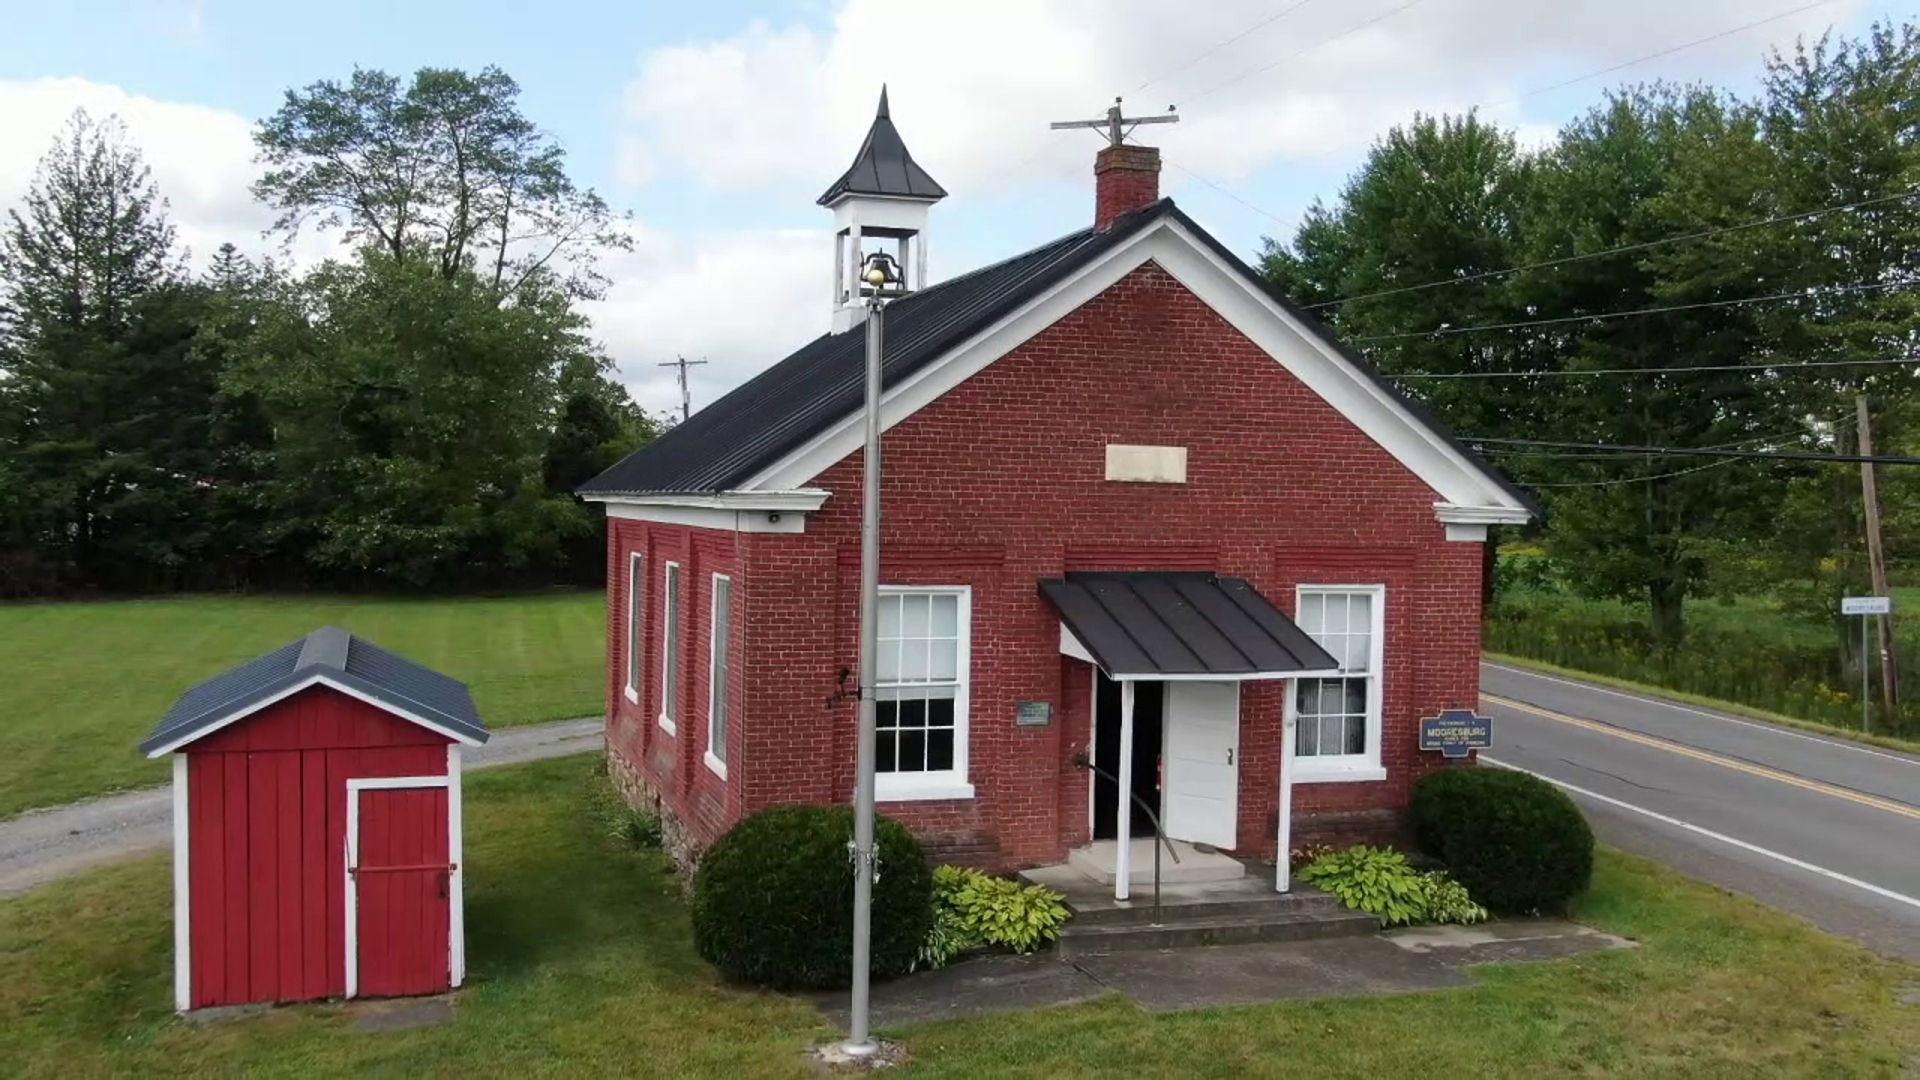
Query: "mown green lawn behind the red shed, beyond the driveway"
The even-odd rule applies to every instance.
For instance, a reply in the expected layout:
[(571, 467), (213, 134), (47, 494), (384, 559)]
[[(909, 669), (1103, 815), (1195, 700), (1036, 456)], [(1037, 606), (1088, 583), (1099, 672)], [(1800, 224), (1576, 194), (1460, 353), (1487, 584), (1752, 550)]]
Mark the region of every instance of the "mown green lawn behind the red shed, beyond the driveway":
[(324, 625), (465, 678), (490, 724), (603, 709), (605, 600), (192, 596), (0, 605), (0, 817), (157, 784), (134, 744), (194, 682)]

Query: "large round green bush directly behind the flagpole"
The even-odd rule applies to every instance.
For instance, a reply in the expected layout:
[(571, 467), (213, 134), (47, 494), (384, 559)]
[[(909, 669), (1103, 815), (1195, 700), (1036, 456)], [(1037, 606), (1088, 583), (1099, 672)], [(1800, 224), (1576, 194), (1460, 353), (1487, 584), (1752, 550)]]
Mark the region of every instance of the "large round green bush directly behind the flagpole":
[[(693, 944), (728, 978), (776, 990), (852, 978), (849, 807), (772, 807), (726, 832), (693, 876)], [(933, 920), (933, 876), (906, 826), (874, 828), (874, 974), (906, 974)]]

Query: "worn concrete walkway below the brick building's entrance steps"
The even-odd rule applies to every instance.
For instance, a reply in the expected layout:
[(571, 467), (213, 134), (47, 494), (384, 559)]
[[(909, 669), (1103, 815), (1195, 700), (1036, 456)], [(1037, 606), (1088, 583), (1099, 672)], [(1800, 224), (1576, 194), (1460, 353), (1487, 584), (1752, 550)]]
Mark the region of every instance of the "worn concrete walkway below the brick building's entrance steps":
[[(874, 986), (877, 1028), (1071, 1005), (1125, 994), (1150, 1013), (1300, 997), (1415, 994), (1473, 986), (1482, 963), (1548, 961), (1632, 942), (1557, 919), (1413, 926), (1363, 938), (1121, 951), (1060, 959), (991, 955)], [(847, 1026), (847, 994), (814, 1003)]]

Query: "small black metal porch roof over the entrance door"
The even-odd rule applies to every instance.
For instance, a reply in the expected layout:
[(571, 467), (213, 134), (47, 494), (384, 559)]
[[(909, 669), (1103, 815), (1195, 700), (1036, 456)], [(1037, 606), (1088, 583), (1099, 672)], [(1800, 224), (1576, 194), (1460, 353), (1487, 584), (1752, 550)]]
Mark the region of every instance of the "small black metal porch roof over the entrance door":
[(1340, 667), (1244, 578), (1069, 573), (1041, 596), (1114, 678), (1244, 678)]

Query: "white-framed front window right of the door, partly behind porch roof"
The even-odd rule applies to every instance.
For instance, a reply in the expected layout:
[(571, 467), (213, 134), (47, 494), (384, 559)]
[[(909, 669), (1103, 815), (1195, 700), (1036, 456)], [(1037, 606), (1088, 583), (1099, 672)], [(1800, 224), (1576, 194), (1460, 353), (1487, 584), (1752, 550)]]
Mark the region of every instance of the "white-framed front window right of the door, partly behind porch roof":
[(1386, 590), (1304, 584), (1296, 623), (1340, 675), (1296, 678), (1294, 773), (1300, 780), (1380, 780), (1380, 661)]

